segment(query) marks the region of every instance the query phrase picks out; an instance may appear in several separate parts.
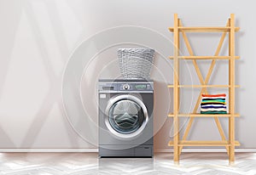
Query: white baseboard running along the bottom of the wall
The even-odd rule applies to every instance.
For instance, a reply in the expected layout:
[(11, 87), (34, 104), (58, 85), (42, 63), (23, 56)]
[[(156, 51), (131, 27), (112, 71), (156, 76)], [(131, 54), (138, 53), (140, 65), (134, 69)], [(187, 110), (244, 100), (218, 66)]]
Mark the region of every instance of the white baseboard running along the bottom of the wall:
[[(98, 149), (0, 149), (0, 152), (49, 152), (49, 153), (75, 153), (75, 152), (85, 152), (85, 153), (96, 153)], [(154, 152), (166, 153), (173, 152), (172, 149), (156, 149)], [(226, 152), (225, 149), (183, 149), (183, 152)], [(236, 149), (236, 152), (256, 152), (256, 149)]]

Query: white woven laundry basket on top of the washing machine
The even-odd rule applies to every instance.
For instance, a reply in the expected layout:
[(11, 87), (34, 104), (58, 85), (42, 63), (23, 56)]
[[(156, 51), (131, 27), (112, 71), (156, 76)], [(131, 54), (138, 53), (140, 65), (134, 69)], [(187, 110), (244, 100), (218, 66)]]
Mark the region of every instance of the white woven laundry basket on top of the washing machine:
[(119, 48), (119, 68), (125, 79), (149, 79), (154, 64), (154, 49)]

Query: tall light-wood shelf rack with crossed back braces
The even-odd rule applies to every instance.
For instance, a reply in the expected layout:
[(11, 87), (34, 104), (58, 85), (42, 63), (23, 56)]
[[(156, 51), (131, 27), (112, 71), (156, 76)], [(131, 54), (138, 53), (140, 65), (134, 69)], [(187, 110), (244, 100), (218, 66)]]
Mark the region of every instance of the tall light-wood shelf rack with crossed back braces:
[[(169, 142), (169, 146), (173, 146), (174, 155), (173, 161), (178, 164), (179, 155), (183, 150), (183, 146), (224, 146), (229, 155), (230, 164), (235, 161), (235, 146), (239, 146), (240, 143), (235, 140), (235, 117), (238, 117), (239, 114), (235, 113), (235, 88), (238, 88), (235, 84), (235, 61), (236, 59), (240, 59), (239, 56), (235, 55), (235, 32), (239, 31), (239, 27), (235, 27), (235, 14), (230, 14), (230, 18), (227, 21), (226, 26), (224, 27), (185, 27), (182, 25), (182, 21), (177, 18), (177, 14), (174, 14), (174, 27), (170, 27), (169, 31), (173, 32), (174, 39), (174, 55), (170, 57), (173, 59), (173, 85), (168, 85), (168, 88), (173, 88), (173, 114), (169, 114), (169, 117), (173, 118), (173, 140)], [(186, 32), (222, 32), (222, 36), (218, 43), (218, 48), (213, 56), (195, 56), (189, 39), (186, 36)], [(180, 56), (180, 33), (183, 36), (186, 47), (189, 50), (189, 56)], [(219, 52), (223, 46), (224, 38), (227, 33), (229, 34), (229, 55), (228, 56), (220, 56)], [(201, 85), (180, 85), (179, 84), (179, 60), (182, 59), (191, 59), (193, 61), (193, 65), (195, 67), (196, 74), (201, 82)], [(207, 76), (204, 79), (201, 70), (197, 64), (197, 59), (211, 59), (212, 63), (207, 72)], [(218, 59), (228, 59), (229, 61), (229, 84), (228, 85), (208, 85), (210, 77), (212, 75), (212, 70), (216, 64)], [(180, 88), (201, 88), (200, 95), (198, 96), (197, 102), (195, 104), (195, 108), (190, 114), (180, 114), (179, 113), (179, 91)], [(196, 111), (199, 108), (201, 103), (201, 94), (207, 93), (207, 88), (229, 88), (229, 113), (228, 114), (198, 114)], [(189, 117), (188, 126), (185, 129), (183, 134), (183, 138), (180, 139), (179, 135), (179, 117)], [(220, 141), (191, 141), (186, 140), (189, 134), (189, 130), (192, 126), (192, 123), (195, 117), (213, 117), (214, 121), (217, 124), (218, 132), (222, 140)], [(219, 117), (228, 117), (229, 118), (229, 138), (227, 139), (224, 135), (224, 130), (221, 126)]]

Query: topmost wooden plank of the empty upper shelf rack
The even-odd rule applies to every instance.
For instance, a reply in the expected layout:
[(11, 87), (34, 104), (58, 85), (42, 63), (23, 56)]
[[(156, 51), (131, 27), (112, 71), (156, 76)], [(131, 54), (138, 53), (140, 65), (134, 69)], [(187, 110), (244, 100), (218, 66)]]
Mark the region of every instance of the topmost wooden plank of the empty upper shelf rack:
[[(231, 31), (230, 26), (219, 26), (219, 27), (214, 27), (214, 26), (197, 26), (197, 27), (187, 27), (187, 26), (179, 26), (177, 27), (178, 31), (187, 31), (187, 32), (229, 32)], [(235, 27), (235, 31), (239, 31), (240, 27)], [(169, 31), (173, 32), (174, 28), (169, 27)]]

